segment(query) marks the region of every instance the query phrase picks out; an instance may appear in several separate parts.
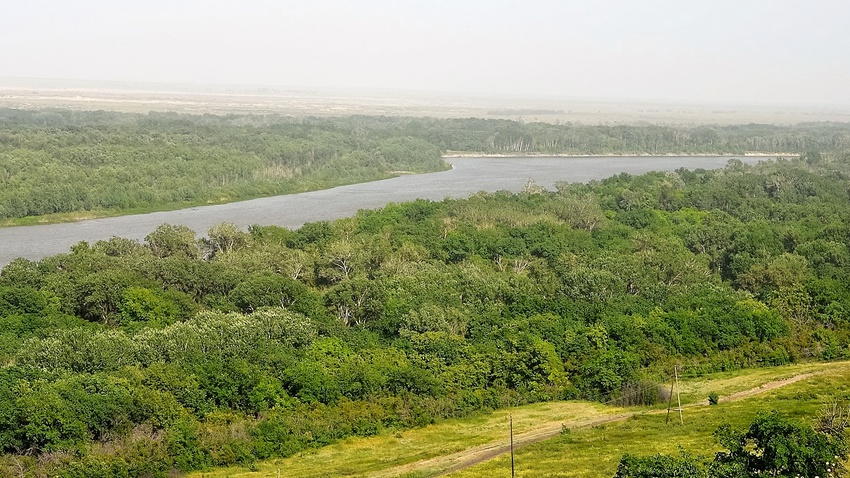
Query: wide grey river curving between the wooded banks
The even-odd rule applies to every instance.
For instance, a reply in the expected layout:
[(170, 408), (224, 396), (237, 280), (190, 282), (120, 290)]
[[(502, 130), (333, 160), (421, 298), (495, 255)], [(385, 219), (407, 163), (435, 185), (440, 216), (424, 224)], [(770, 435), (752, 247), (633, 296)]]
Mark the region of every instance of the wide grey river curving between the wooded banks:
[[(478, 191), (520, 191), (529, 179), (553, 189), (557, 181), (587, 182), (619, 173), (714, 169), (730, 157), (450, 158), (452, 169), (400, 176), (286, 196), (194, 207), (177, 211), (92, 219), (76, 223), (0, 228), (0, 267), (16, 257), (37, 260), (68, 252), (80, 242), (114, 236), (142, 240), (160, 224), (182, 224), (199, 234), (223, 222), (297, 228), (306, 222), (339, 219), (360, 209), (413, 199), (465, 198)], [(740, 158), (747, 163), (758, 159)]]

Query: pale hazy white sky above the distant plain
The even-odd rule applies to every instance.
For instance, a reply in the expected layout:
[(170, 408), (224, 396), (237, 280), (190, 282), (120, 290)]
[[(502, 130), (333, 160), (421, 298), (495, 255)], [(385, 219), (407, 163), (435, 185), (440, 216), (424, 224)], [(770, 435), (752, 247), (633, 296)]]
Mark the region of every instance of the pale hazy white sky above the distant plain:
[(0, 2), (0, 77), (850, 105), (847, 0)]

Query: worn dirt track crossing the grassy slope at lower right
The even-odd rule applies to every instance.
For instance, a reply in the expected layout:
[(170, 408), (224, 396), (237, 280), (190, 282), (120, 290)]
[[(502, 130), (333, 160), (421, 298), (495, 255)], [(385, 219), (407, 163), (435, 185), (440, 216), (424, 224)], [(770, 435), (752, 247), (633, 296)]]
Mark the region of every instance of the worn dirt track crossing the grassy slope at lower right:
[[(822, 372), (809, 372), (802, 373), (799, 375), (794, 375), (793, 377), (785, 378), (782, 380), (775, 380), (772, 382), (767, 382), (758, 387), (751, 388), (749, 390), (742, 390), (740, 392), (735, 392), (731, 395), (722, 397), (724, 402), (735, 402), (738, 400), (743, 400), (748, 397), (752, 397), (754, 395), (758, 395), (761, 393), (768, 392), (770, 390), (775, 390), (777, 388), (784, 387), (786, 385), (791, 385), (792, 383), (799, 382), (801, 380), (806, 380), (807, 378), (811, 378), (815, 375), (825, 373)], [(691, 408), (696, 406), (708, 405), (708, 400), (685, 405), (683, 408)], [(514, 435), (514, 450), (522, 448), (526, 445), (530, 445), (532, 443), (537, 443), (539, 441), (543, 441), (552, 437), (557, 436), (562, 428), (566, 427), (569, 429), (581, 429), (594, 427), (598, 425), (602, 425), (605, 423), (618, 422), (622, 420), (626, 420), (638, 413), (649, 413), (649, 414), (659, 414), (666, 413), (667, 410), (652, 410), (649, 412), (627, 412), (627, 413), (618, 413), (612, 415), (603, 415), (596, 416), (584, 420), (573, 420), (568, 422), (551, 422), (541, 425), (534, 430), (521, 433), (518, 435)], [(457, 453), (452, 453), (450, 455), (437, 456), (434, 458), (429, 458), (427, 460), (420, 460), (413, 463), (408, 463), (406, 465), (397, 466), (395, 468), (390, 468), (384, 470), (380, 473), (375, 473), (371, 476), (388, 478), (393, 476), (400, 476), (406, 473), (411, 473), (415, 471), (425, 471), (425, 470), (440, 470), (437, 472), (436, 476), (446, 475), (449, 473), (453, 473), (455, 471), (460, 471), (465, 468), (469, 468), (471, 466), (475, 466), (479, 463), (492, 460), (500, 455), (510, 452), (510, 445), (505, 443), (504, 440), (500, 440), (497, 442), (486, 443), (484, 445), (479, 445), (476, 447), (472, 447), (466, 450), (459, 451)]]

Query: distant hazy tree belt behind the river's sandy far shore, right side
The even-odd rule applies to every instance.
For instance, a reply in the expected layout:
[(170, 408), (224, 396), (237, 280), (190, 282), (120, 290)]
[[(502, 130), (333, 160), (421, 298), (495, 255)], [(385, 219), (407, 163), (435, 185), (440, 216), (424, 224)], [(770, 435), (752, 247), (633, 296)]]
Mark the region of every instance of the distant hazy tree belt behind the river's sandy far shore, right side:
[(551, 154), (744, 154), (850, 148), (847, 123), (795, 126), (583, 125), (494, 119), (358, 118), (368, 127), (401, 131), (443, 151)]

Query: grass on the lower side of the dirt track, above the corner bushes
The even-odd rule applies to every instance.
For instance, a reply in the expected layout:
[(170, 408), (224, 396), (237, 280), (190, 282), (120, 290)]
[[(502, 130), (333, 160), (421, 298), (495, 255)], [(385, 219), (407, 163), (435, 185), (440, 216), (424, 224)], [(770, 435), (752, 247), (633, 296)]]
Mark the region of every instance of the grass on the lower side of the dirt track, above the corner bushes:
[[(829, 369), (832, 370), (829, 370)], [(686, 452), (710, 458), (720, 450), (712, 433), (723, 423), (744, 427), (762, 410), (777, 409), (782, 413), (808, 420), (825, 402), (833, 398), (850, 398), (850, 367), (830, 364), (825, 373), (785, 387), (756, 394), (736, 402), (717, 406), (697, 406), (685, 410), (684, 425), (665, 424), (665, 414), (635, 415), (629, 420), (597, 428), (576, 430), (552, 440), (529, 445), (516, 454), (517, 476), (534, 477), (611, 477), (620, 457), (625, 453), (651, 455)], [(761, 372), (761, 371), (760, 371)], [(764, 374), (761, 374), (765, 377)], [(756, 380), (746, 375), (743, 382)], [(723, 388), (735, 382), (725, 380)], [(712, 383), (697, 384), (701, 390), (720, 389)], [(691, 386), (691, 384), (689, 384)], [(510, 470), (509, 457), (452, 473), (455, 478), (491, 477)], [(508, 471), (509, 473), (509, 471)]]

